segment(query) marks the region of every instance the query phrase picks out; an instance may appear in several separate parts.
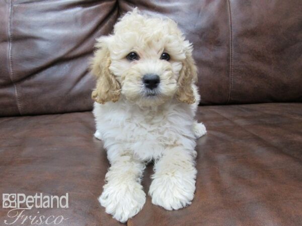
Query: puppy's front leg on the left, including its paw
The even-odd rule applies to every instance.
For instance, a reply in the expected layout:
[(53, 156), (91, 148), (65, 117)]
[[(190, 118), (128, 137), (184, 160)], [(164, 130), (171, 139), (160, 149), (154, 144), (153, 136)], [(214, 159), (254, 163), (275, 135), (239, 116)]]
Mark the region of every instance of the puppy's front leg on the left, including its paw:
[(114, 159), (106, 174), (106, 182), (99, 201), (106, 212), (120, 222), (134, 216), (145, 203), (145, 193), (140, 178), (145, 164), (130, 155)]

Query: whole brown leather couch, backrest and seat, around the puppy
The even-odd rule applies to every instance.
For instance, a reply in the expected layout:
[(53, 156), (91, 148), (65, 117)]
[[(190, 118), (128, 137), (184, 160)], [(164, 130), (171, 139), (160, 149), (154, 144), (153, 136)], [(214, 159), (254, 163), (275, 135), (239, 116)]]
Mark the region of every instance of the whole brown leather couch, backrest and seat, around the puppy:
[(68, 193), (69, 208), (24, 214), (120, 224), (97, 200), (108, 161), (93, 138), (88, 65), (95, 39), (133, 7), (169, 16), (193, 43), (208, 134), (192, 205), (168, 211), (147, 197), (127, 224), (302, 225), (300, 0), (0, 1), (0, 195)]

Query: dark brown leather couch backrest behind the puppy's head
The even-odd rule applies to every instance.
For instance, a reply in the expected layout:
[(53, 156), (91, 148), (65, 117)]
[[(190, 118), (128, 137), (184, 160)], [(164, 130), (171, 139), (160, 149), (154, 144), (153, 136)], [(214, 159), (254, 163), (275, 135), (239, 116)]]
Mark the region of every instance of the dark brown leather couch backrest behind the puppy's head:
[(95, 39), (138, 7), (194, 45), (201, 104), (302, 100), (300, 0), (0, 1), (0, 116), (91, 110)]

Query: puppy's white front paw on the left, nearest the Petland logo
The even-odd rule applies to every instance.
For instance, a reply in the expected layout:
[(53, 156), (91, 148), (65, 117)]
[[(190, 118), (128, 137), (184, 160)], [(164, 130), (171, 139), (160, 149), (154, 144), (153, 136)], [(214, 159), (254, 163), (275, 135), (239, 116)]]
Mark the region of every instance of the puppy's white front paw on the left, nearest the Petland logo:
[(106, 184), (104, 191), (99, 197), (106, 212), (113, 218), (124, 223), (141, 210), (145, 203), (146, 195), (142, 186), (137, 182), (128, 184)]

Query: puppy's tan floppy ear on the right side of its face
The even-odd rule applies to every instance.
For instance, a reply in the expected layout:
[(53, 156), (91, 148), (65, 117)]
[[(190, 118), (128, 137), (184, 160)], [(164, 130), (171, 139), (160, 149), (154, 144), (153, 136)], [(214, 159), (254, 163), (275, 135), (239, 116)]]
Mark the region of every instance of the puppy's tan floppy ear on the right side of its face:
[(197, 68), (192, 57), (192, 48), (186, 51), (186, 59), (182, 62), (183, 67), (179, 73), (178, 89), (176, 98), (188, 104), (195, 102), (192, 83), (197, 82)]

